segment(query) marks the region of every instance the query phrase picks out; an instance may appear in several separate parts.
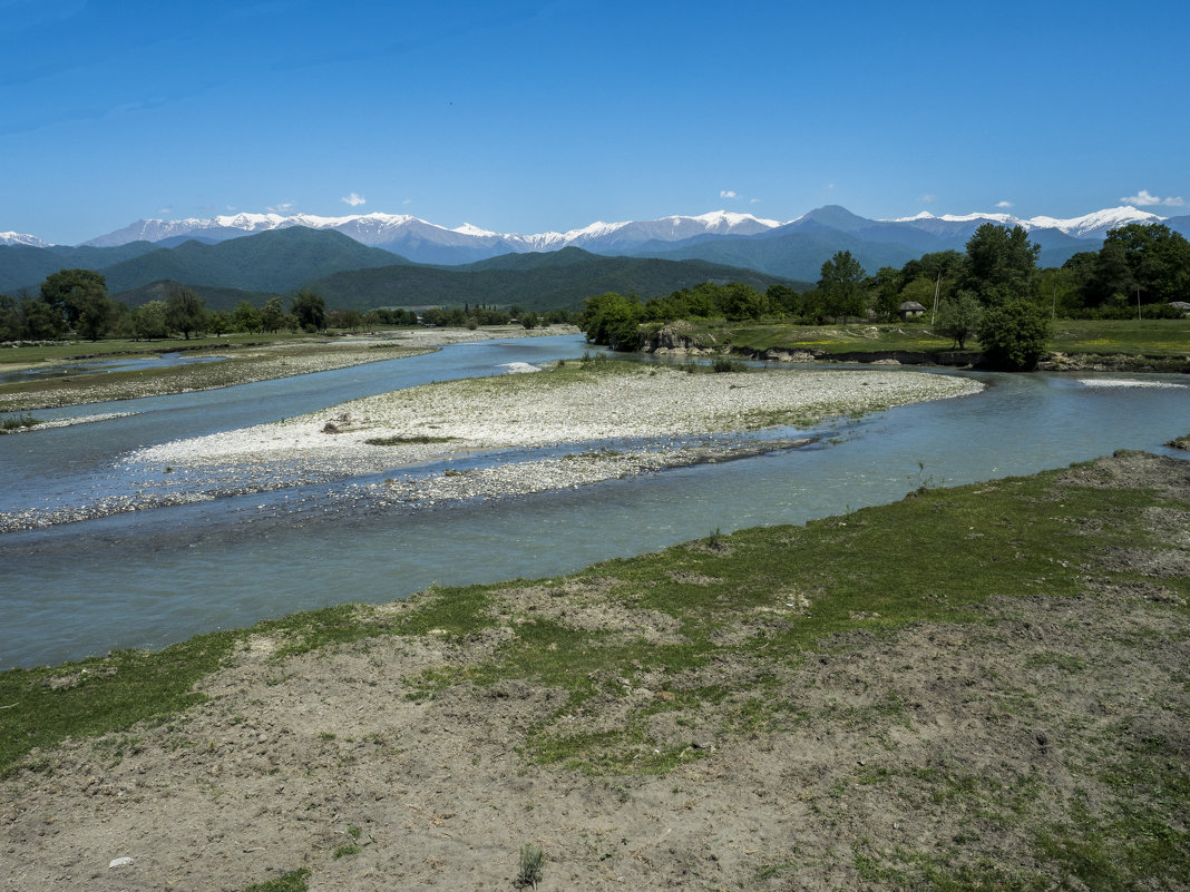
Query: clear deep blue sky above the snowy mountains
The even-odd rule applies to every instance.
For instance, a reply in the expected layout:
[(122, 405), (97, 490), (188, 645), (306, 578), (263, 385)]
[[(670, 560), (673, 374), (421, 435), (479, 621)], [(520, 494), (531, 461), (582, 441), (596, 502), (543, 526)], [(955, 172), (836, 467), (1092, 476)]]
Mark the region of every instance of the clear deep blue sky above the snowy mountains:
[(1190, 202), (1188, 42), (1184, 0), (0, 0), (0, 231)]

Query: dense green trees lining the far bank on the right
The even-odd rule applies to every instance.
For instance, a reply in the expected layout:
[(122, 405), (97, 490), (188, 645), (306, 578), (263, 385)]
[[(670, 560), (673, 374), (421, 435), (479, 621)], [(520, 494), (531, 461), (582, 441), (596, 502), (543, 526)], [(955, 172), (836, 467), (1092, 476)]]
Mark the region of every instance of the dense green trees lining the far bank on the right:
[(596, 295), (587, 300), (580, 326), (595, 344), (634, 351), (644, 345), (643, 326), (650, 322), (772, 318), (816, 325), (923, 312), (934, 332), (951, 338), (958, 348), (976, 338), (991, 364), (1031, 368), (1048, 338), (1048, 320), (1058, 315), (1184, 315), (1170, 302), (1190, 296), (1190, 241), (1164, 224), (1111, 230), (1098, 251), (1075, 255), (1061, 268), (1039, 268), (1040, 252), (1022, 227), (988, 222), (976, 230), (964, 252), (926, 253), (875, 275), (850, 251), (839, 251), (806, 291), (777, 284), (762, 293), (732, 282), (704, 283), (649, 301), (614, 291)]

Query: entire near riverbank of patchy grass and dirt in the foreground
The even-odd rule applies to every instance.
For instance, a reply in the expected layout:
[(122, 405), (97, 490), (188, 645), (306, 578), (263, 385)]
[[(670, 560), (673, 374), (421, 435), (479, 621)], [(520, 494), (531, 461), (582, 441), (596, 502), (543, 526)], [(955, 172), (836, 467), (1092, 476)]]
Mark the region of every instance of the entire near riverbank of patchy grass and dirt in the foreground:
[(1188, 571), (1121, 453), (5, 673), (6, 879), (1184, 888)]

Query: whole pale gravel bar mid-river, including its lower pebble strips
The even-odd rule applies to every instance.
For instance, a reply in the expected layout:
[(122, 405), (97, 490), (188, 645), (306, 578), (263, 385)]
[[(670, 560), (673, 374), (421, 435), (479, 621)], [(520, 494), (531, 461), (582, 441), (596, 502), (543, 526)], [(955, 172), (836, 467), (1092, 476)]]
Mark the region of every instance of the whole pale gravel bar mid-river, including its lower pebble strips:
[(344, 485), (331, 498), (389, 510), (502, 498), (791, 448), (807, 440), (789, 427), (981, 388), (892, 370), (693, 375), (571, 362), (397, 390), (140, 450), (123, 463), (134, 480), (127, 491), (0, 515), (0, 532), (361, 475), (387, 478)]

